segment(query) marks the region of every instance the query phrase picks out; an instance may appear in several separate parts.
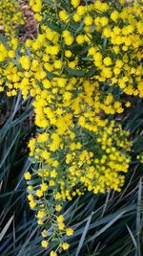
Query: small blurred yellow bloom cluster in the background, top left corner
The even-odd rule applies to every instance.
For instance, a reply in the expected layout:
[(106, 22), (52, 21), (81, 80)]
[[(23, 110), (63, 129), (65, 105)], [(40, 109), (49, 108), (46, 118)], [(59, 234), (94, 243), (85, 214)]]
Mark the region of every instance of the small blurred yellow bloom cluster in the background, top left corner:
[(0, 1), (0, 26), (2, 32), (9, 38), (13, 38), (19, 25), (24, 24), (22, 13), (19, 11), (19, 4), (16, 0)]

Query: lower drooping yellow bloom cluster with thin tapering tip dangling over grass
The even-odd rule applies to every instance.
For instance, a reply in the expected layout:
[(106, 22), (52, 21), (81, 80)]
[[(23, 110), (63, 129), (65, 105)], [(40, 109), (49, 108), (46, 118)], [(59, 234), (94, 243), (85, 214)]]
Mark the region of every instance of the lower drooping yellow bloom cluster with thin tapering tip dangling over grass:
[(119, 192), (124, 184), (124, 174), (131, 161), (129, 131), (115, 126), (113, 121), (107, 123), (99, 119), (94, 128), (89, 130), (84, 124), (79, 125), (75, 118), (74, 124), (67, 129), (52, 126), (30, 141), (31, 161), (38, 164), (39, 169), (32, 175), (26, 173), (25, 178), (29, 185), (30, 206), (39, 209), (38, 224), (47, 226), (42, 231), (41, 244), (45, 248), (51, 242), (50, 234), (54, 234), (56, 240), (60, 238), (59, 252), (70, 247), (70, 244), (61, 243), (65, 235), (73, 233), (60, 213), (65, 200), (81, 196), (85, 191), (97, 194), (113, 189)]

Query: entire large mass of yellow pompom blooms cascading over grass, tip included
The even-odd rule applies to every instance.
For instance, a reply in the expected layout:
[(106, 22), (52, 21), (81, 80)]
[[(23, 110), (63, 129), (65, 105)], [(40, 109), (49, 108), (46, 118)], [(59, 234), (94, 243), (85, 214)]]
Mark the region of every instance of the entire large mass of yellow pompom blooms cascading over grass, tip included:
[(0, 90), (33, 99), (41, 130), (29, 143), (38, 168), (25, 175), (28, 199), (42, 246), (58, 241), (56, 256), (73, 233), (63, 203), (86, 191), (119, 192), (129, 170), (130, 132), (111, 120), (130, 107), (129, 95), (143, 97), (142, 1), (30, 4), (39, 34), (22, 46), (0, 43)]

